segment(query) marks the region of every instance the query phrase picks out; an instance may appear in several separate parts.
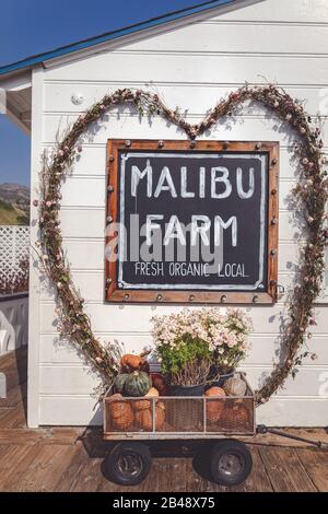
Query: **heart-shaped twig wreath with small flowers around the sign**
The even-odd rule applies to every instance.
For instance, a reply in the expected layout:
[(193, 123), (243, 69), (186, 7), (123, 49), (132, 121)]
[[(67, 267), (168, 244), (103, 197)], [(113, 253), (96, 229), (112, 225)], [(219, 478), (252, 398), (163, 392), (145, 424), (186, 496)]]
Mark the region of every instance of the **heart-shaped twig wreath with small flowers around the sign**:
[(300, 179), (294, 196), (298, 200), (300, 210), (304, 213), (308, 229), (307, 241), (301, 249), (298, 283), (291, 294), (289, 316), (281, 335), (283, 359), (276, 364), (271, 375), (256, 393), (257, 404), (268, 401), (286, 377), (295, 373), (295, 366), (301, 364), (302, 358), (308, 354), (300, 352), (306, 339), (311, 337), (307, 332), (308, 327), (316, 325), (314, 302), (320, 292), (325, 267), (324, 250), (328, 238), (328, 231), (325, 230), (328, 177), (321, 170), (324, 144), (320, 129), (313, 127), (312, 119), (305, 113), (302, 103), (276, 85), (246, 84), (220, 101), (199, 125), (190, 125), (177, 109), (169, 109), (157, 94), (140, 90), (118, 90), (106, 94), (81, 115), (70, 131), (58, 142), (50, 161), (45, 160), (40, 200), (34, 202), (35, 207), (39, 205), (42, 261), (47, 277), (57, 290), (58, 331), (61, 337), (82, 349), (106, 382), (112, 381), (118, 372), (117, 349), (115, 344), (105, 348), (93, 335), (90, 317), (83, 309), (84, 300), (72, 281), (60, 230), (59, 209), (62, 198), (60, 188), (75, 155), (82, 152), (79, 138), (91, 124), (99, 120), (112, 107), (129, 103), (137, 107), (141, 116), (162, 116), (185, 131), (190, 140), (195, 140), (211, 129), (223, 116), (232, 116), (236, 107), (246, 101), (266, 106), (269, 112), (286, 121), (298, 136), (293, 147), (300, 167)]

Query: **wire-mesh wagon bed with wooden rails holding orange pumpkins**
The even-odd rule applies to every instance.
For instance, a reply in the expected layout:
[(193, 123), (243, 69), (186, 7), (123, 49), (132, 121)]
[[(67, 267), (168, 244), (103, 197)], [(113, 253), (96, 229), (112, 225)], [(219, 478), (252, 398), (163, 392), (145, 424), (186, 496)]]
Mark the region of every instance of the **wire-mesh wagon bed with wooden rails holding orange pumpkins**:
[(245, 396), (104, 398), (104, 437), (209, 439), (255, 434), (255, 397), (245, 376)]

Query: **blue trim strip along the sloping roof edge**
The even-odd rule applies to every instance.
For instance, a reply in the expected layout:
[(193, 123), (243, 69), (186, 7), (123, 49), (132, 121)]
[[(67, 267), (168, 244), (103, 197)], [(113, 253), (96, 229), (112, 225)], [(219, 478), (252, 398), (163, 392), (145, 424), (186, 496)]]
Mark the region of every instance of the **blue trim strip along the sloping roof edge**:
[(112, 42), (122, 36), (136, 34), (147, 28), (156, 27), (156, 26), (160, 26), (160, 25), (163, 25), (165, 23), (173, 22), (176, 20), (181, 20), (191, 14), (198, 14), (204, 11), (209, 11), (211, 9), (215, 9), (221, 5), (234, 4), (234, 3), (237, 3), (238, 1), (239, 0), (211, 0), (211, 1), (199, 3), (190, 8), (181, 9), (179, 11), (169, 12), (167, 14), (163, 14), (157, 17), (152, 17), (151, 20), (147, 20), (144, 22), (136, 23), (133, 25), (129, 25), (124, 28), (118, 28), (112, 32), (107, 32), (99, 36), (91, 37), (89, 39), (83, 39), (78, 43), (72, 43), (71, 45), (66, 45), (66, 46), (56, 48), (55, 50), (51, 50), (51, 51), (46, 51), (44, 54), (38, 54), (32, 57), (27, 57), (23, 60), (13, 62), (11, 65), (2, 66), (0, 67), (0, 75), (4, 75), (5, 73), (11, 73), (13, 71), (23, 70), (26, 68), (32, 68), (33, 66), (36, 66), (49, 59), (54, 59), (56, 57), (66, 56), (68, 54), (72, 54), (78, 50), (83, 50), (85, 48), (90, 48), (101, 43)]

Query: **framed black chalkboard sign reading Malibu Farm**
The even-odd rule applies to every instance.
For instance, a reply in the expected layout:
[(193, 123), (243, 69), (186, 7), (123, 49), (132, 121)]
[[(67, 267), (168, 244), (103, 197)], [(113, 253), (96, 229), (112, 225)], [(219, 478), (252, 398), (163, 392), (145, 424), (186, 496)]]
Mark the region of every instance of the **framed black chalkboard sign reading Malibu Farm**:
[(272, 303), (271, 142), (109, 140), (106, 300)]

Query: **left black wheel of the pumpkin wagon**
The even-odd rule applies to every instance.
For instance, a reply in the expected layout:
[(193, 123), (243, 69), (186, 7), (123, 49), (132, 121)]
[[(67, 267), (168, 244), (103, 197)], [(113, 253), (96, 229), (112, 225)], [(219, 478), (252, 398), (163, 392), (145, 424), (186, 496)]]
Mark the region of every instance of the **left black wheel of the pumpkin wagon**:
[(103, 474), (121, 486), (136, 486), (148, 476), (152, 464), (150, 449), (142, 443), (119, 443), (105, 457)]

